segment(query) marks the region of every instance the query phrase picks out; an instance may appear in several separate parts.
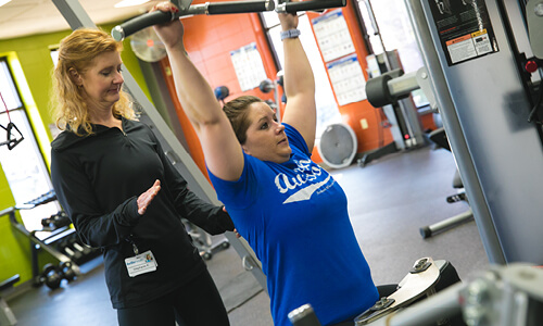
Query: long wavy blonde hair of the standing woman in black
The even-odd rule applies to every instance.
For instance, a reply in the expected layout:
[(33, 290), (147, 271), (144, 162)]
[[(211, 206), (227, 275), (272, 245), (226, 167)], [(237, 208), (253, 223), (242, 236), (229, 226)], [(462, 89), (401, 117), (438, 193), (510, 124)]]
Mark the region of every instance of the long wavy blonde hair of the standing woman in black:
[[(91, 135), (92, 124), (87, 103), (81, 97), (79, 87), (70, 75), (71, 70), (84, 74), (92, 64), (92, 60), (110, 51), (123, 50), (123, 43), (111, 35), (93, 28), (80, 28), (61, 40), (59, 62), (53, 72), (52, 108), (55, 108), (55, 123), (61, 130), (70, 129), (76, 135)], [(115, 117), (134, 120), (136, 114), (131, 100), (126, 92), (119, 91), (119, 100), (112, 106)]]

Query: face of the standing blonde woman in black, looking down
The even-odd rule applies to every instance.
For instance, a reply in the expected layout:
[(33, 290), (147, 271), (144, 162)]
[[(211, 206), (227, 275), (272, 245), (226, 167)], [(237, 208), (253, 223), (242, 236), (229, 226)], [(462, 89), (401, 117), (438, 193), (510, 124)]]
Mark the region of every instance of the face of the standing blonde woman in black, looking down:
[(119, 99), (123, 83), (121, 53), (104, 52), (92, 60), (90, 67), (77, 78), (89, 108), (111, 108)]

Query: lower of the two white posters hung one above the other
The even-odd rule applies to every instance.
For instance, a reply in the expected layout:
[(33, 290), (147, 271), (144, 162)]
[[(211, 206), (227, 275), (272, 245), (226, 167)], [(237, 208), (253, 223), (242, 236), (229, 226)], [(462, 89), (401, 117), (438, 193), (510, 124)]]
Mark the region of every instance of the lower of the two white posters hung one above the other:
[(366, 99), (366, 78), (356, 54), (330, 62), (327, 68), (339, 105)]

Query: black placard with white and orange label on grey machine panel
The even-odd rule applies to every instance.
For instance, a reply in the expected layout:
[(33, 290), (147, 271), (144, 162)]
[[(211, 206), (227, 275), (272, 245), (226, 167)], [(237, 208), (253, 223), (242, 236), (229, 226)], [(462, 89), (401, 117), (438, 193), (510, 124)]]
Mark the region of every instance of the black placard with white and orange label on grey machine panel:
[(432, 0), (429, 5), (450, 66), (498, 51), (484, 0)]

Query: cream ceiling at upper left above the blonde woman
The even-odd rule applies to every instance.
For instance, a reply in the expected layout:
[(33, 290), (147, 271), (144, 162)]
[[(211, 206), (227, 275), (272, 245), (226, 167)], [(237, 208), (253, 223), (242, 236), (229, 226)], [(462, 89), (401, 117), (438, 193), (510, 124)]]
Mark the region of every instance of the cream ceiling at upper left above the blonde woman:
[[(70, 0), (72, 2), (74, 0)], [(114, 8), (121, 0), (79, 0), (96, 25), (119, 22), (146, 13), (159, 1)], [(0, 7), (0, 39), (70, 29), (52, 0), (12, 0)]]

